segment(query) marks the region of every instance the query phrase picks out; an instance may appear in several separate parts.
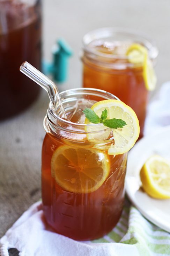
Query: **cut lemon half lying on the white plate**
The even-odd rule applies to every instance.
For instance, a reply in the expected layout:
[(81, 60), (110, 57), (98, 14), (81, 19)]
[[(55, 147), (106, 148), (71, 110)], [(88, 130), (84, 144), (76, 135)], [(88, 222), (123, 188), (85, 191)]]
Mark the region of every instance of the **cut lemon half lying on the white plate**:
[(153, 198), (170, 198), (170, 162), (159, 155), (153, 155), (140, 171), (143, 189)]

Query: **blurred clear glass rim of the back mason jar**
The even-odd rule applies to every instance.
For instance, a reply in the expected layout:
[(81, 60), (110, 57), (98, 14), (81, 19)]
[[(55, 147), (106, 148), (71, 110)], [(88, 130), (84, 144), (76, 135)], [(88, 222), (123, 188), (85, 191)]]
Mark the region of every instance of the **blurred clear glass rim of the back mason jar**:
[(135, 39), (138, 43), (142, 43), (148, 49), (148, 55), (151, 60), (154, 60), (158, 55), (158, 49), (155, 42), (150, 39), (146, 34), (138, 32), (138, 30), (130, 28), (118, 28), (118, 27), (104, 27), (92, 30), (83, 36), (83, 50), (89, 54), (93, 54), (92, 58), (99, 56), (107, 59), (124, 59), (129, 60), (127, 55), (114, 55), (108, 53), (102, 53), (89, 47), (89, 43), (94, 40), (104, 39), (110, 36), (126, 36), (129, 39)]

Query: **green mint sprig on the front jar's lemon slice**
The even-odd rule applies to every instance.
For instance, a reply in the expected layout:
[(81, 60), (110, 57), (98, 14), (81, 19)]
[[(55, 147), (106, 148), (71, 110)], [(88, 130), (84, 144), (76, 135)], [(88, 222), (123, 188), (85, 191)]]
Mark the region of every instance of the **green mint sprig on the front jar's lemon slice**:
[(103, 123), (104, 126), (107, 126), (111, 129), (123, 128), (123, 126), (126, 125), (126, 122), (122, 119), (106, 119), (108, 117), (108, 111), (106, 109), (102, 111), (101, 117), (97, 116), (93, 110), (88, 108), (84, 109), (83, 113), (86, 118), (93, 124)]

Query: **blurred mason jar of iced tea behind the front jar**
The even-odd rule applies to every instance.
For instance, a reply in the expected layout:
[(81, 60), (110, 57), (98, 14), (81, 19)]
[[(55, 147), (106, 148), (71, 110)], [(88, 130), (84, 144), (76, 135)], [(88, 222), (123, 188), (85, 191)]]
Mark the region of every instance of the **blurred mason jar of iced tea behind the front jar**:
[(101, 28), (83, 37), (83, 87), (111, 92), (130, 106), (140, 124), (140, 138), (146, 117), (148, 90), (143, 79), (142, 63), (132, 63), (128, 47), (138, 43), (146, 47), (151, 61), (158, 51), (154, 43), (128, 29)]

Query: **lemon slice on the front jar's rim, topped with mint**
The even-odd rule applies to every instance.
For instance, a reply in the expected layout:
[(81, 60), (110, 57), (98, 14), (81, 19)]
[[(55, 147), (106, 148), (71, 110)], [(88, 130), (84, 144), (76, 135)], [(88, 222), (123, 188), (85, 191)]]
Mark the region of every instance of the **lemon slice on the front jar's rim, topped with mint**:
[[(90, 141), (101, 141), (103, 138), (107, 139), (109, 134), (113, 132), (114, 137), (114, 144), (111, 144), (109, 148), (105, 148), (108, 150), (109, 155), (118, 155), (123, 154), (130, 150), (130, 148), (133, 147), (136, 140), (139, 137), (139, 121), (138, 118), (129, 106), (127, 106), (122, 101), (118, 101), (116, 99), (109, 99), (104, 101), (96, 102), (91, 109), (100, 117), (103, 110), (108, 111), (108, 119), (111, 118), (117, 118), (122, 119), (126, 122), (127, 125), (125, 125), (123, 128), (118, 129), (110, 129), (103, 125), (103, 127), (106, 129), (103, 134), (101, 134), (99, 131), (99, 127), (101, 125), (93, 125), (87, 126), (85, 130), (87, 132), (96, 131), (95, 134), (89, 133), (87, 134), (87, 139)], [(85, 124), (91, 124), (90, 121), (86, 118)]]

